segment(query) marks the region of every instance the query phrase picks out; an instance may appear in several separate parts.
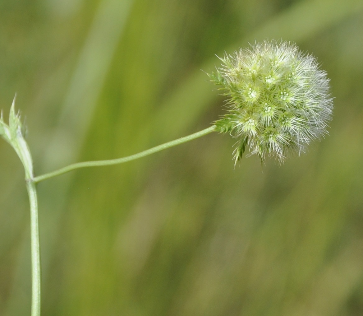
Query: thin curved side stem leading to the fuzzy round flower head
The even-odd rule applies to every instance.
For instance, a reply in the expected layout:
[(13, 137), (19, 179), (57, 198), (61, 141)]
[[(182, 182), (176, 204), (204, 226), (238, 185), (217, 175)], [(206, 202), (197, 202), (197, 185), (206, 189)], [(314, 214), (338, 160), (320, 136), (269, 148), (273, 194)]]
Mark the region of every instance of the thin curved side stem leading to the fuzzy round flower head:
[(58, 169), (56, 171), (52, 171), (50, 173), (46, 173), (46, 174), (40, 175), (38, 177), (35, 177), (35, 178), (33, 178), (33, 182), (38, 183), (38, 182), (44, 181), (46, 179), (50, 179), (50, 178), (56, 177), (57, 175), (61, 175), (61, 174), (64, 174), (64, 173), (67, 173), (69, 171), (79, 169), (79, 168), (117, 165), (119, 163), (124, 163), (124, 162), (128, 162), (131, 160), (139, 159), (141, 157), (145, 157), (147, 155), (157, 153), (158, 151), (161, 151), (161, 150), (191, 141), (192, 139), (196, 139), (198, 137), (207, 135), (207, 134), (211, 133), (212, 131), (214, 131), (215, 128), (216, 128), (216, 126), (213, 125), (204, 130), (196, 132), (194, 134), (175, 139), (174, 141), (170, 141), (170, 142), (164, 143), (162, 145), (141, 151), (138, 154), (134, 154), (134, 155), (123, 157), (123, 158), (73, 163), (72, 165), (66, 166), (66, 167)]

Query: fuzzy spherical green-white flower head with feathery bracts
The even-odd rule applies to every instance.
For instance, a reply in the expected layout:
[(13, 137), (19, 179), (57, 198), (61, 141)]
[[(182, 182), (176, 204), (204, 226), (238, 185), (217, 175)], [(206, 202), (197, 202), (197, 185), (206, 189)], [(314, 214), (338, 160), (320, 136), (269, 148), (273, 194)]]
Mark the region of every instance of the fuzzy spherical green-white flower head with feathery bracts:
[(327, 133), (333, 99), (316, 58), (290, 42), (267, 40), (219, 58), (222, 66), (209, 77), (228, 96), (228, 112), (214, 124), (238, 139), (235, 162), (249, 147), (261, 161), (272, 156), (281, 163)]

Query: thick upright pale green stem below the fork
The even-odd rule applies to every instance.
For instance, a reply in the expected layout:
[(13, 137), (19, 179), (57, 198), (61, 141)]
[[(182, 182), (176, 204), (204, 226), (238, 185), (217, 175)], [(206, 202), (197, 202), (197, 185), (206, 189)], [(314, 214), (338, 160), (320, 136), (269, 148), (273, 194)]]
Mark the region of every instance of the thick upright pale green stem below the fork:
[(30, 248), (32, 256), (32, 314), (40, 316), (40, 244), (38, 224), (38, 198), (36, 184), (32, 179), (26, 179), (30, 203)]

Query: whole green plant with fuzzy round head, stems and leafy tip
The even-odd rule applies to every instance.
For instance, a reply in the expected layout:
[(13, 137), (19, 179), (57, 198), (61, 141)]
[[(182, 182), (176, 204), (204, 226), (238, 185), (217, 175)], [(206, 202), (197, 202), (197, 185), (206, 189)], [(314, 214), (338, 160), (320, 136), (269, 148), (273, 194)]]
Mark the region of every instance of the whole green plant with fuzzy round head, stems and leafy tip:
[(30, 202), (32, 253), (32, 316), (40, 316), (40, 249), (36, 184), (68, 171), (92, 166), (115, 165), (135, 160), (160, 150), (196, 139), (212, 131), (228, 133), (236, 139), (234, 164), (245, 150), (261, 162), (270, 156), (278, 163), (291, 154), (301, 154), (310, 141), (327, 134), (333, 99), (329, 79), (317, 60), (299, 51), (295, 44), (264, 41), (231, 55), (219, 57), (222, 65), (208, 74), (227, 97), (226, 113), (197, 133), (164, 143), (128, 157), (74, 163), (59, 170), (34, 177), (33, 162), (23, 134), (15, 99), (9, 123), (0, 117), (0, 135), (16, 151), (25, 169), (25, 183)]

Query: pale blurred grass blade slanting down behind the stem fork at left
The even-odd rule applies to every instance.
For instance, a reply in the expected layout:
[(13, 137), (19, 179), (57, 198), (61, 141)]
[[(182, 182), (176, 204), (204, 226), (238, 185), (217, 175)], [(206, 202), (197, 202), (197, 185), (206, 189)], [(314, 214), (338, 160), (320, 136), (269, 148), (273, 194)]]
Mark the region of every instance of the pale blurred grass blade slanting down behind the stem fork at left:
[[(132, 0), (103, 0), (100, 2), (85, 44), (79, 54), (79, 60), (61, 109), (59, 123), (51, 137), (48, 154), (39, 164), (45, 170), (54, 169), (57, 165), (63, 166), (67, 161), (74, 161), (77, 158), (114, 52), (122, 36), (132, 2)], [(48, 185), (39, 189), (42, 197), (40, 204), (41, 234), (48, 236), (46, 240), (41, 240), (43, 282), (48, 274), (53, 251), (57, 251), (54, 244), (58, 237), (60, 212), (65, 203), (64, 197), (68, 190), (69, 179), (69, 177), (65, 178), (65, 181), (61, 184), (58, 183), (57, 187)], [(15, 284), (30, 281), (27, 268), (30, 265), (28, 244), (29, 233), (22, 240), (20, 260), (14, 272)], [(24, 302), (24, 291), (30, 293), (30, 290), (23, 287), (14, 287), (9, 295), (5, 315), (27, 315), (29, 313), (30, 301), (29, 304)]]

